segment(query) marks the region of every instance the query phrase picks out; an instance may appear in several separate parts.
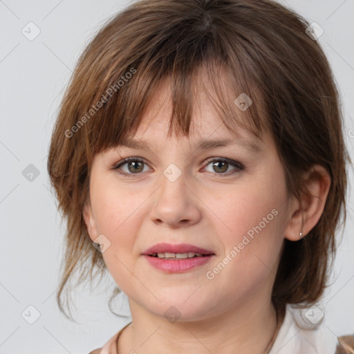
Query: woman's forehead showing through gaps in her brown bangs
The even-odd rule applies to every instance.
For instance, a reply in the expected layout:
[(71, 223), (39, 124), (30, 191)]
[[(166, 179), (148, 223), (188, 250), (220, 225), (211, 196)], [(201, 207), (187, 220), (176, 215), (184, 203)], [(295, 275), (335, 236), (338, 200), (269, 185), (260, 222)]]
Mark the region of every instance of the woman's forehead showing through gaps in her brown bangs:
[[(250, 151), (261, 150), (261, 138), (252, 134), (248, 129), (239, 127), (237, 131), (230, 131), (221, 118), (220, 112), (211, 102), (210, 96), (204, 90), (196, 91), (194, 97), (191, 129), (187, 137), (183, 136), (180, 131), (175, 131), (178, 142), (185, 140), (195, 149), (212, 149), (238, 144)], [(147, 105), (136, 133), (124, 137), (118, 147), (145, 149), (147, 145), (163, 144), (167, 139), (171, 112), (171, 88), (169, 82), (164, 80)], [(234, 114), (237, 114), (236, 106)], [(243, 118), (238, 116), (236, 119), (242, 120)]]

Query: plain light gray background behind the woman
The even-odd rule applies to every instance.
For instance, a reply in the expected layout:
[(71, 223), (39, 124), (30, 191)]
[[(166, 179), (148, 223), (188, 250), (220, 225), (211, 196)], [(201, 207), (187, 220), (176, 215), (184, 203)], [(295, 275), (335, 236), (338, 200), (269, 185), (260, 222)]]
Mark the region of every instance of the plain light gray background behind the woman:
[[(106, 286), (75, 291), (80, 324), (65, 319), (55, 301), (64, 226), (50, 193), (46, 171), (50, 133), (59, 101), (85, 44), (129, 1), (0, 1), (1, 71), (1, 248), (0, 353), (88, 353), (102, 346), (129, 318), (106, 306), (113, 279)], [(324, 28), (319, 38), (339, 85), (349, 151), (354, 140), (354, 0), (287, 0), (310, 22)], [(32, 41), (21, 32), (28, 22), (40, 29)], [(25, 27), (26, 28), (26, 27)], [(32, 32), (33, 33), (33, 32)], [(32, 181), (23, 171), (34, 169)], [(350, 181), (353, 171), (350, 169)], [(335, 335), (354, 333), (353, 192), (348, 193), (348, 222), (326, 292), (326, 326)], [(123, 295), (115, 311), (129, 315)], [(27, 321), (21, 315), (29, 309)], [(32, 316), (32, 317), (31, 317)]]

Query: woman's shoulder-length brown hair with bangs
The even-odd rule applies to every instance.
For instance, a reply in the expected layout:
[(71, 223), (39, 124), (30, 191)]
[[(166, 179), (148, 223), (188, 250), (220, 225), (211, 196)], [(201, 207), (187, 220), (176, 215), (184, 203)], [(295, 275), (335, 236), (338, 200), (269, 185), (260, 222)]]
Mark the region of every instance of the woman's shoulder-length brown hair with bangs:
[[(308, 26), (269, 0), (148, 0), (132, 3), (97, 33), (62, 100), (48, 156), (51, 183), (68, 223), (57, 293), (63, 313), (62, 292), (71, 276), (80, 272), (78, 284), (92, 281), (93, 270), (101, 277), (106, 270), (82, 216), (93, 156), (136, 132), (165, 79), (173, 102), (169, 134), (175, 128), (187, 136), (192, 88), (201, 88), (194, 80), (201, 69), (209, 79), (204, 89), (212, 91), (213, 100), (218, 97), (214, 102), (229, 129), (237, 134), (243, 127), (256, 136), (270, 129), (289, 196), (304, 192), (301, 174), (311, 166), (328, 170), (324, 212), (304, 239), (284, 241), (272, 292), (274, 304), (319, 299), (341, 212), (346, 220), (346, 160), (351, 160), (335, 80), (322, 48), (307, 35)], [(227, 82), (220, 80), (221, 69)], [(222, 94), (225, 85), (234, 93), (232, 100)], [(234, 104), (241, 93), (253, 101), (246, 111)], [(111, 300), (119, 292), (115, 288)]]

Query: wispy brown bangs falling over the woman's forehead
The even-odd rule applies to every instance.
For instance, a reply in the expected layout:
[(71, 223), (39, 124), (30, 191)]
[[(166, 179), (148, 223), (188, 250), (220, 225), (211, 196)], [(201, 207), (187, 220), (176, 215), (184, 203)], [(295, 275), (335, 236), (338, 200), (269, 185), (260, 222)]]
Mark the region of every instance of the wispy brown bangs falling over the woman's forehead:
[[(260, 138), (263, 127), (268, 125), (262, 102), (263, 93), (256, 88), (250, 79), (251, 74), (240, 70), (232, 71), (230, 58), (218, 55), (220, 44), (205, 38), (200, 40), (200, 47), (194, 44), (193, 54), (189, 46), (179, 46), (174, 52), (174, 58), (161, 62), (162, 53), (153, 50), (142, 58), (139, 65), (131, 65), (111, 79), (97, 91), (94, 100), (104, 95), (109, 87), (119, 82), (119, 77), (136, 70), (136, 77), (130, 80), (106, 102), (105, 106), (86, 124), (86, 151), (88, 151), (88, 166), (91, 166), (93, 156), (107, 149), (117, 147), (124, 138), (133, 136), (147, 111), (158, 86), (169, 83), (171, 93), (171, 116), (169, 131), (183, 136), (189, 135), (190, 125), (193, 126), (193, 113), (201, 91), (206, 93), (209, 102), (218, 113), (227, 129), (234, 136), (240, 135), (240, 129), (249, 131)], [(204, 55), (202, 48), (206, 48)], [(206, 56), (207, 55), (207, 56)], [(234, 58), (232, 58), (235, 60)], [(135, 68), (136, 67), (136, 68)], [(240, 101), (248, 100), (248, 108), (242, 109)], [(243, 102), (241, 102), (243, 103)], [(91, 104), (93, 104), (91, 102)], [(90, 104), (90, 105), (91, 105)]]

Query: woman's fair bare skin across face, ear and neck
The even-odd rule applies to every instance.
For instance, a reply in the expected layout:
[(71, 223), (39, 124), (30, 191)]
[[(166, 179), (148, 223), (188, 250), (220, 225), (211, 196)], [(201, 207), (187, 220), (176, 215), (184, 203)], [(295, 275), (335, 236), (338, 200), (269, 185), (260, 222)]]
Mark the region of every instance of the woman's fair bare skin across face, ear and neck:
[[(313, 169), (304, 175), (313, 197), (287, 198), (283, 166), (267, 131), (257, 153), (241, 145), (196, 150), (202, 138), (235, 140), (202, 92), (189, 138), (166, 138), (169, 95), (162, 82), (134, 136), (147, 141), (148, 149), (110, 149), (95, 156), (91, 169), (84, 220), (92, 241), (103, 234), (111, 243), (102, 256), (129, 297), (133, 321), (120, 336), (119, 353), (262, 353), (277, 326), (271, 293), (281, 246), (316, 225), (330, 178), (315, 166), (322, 178), (315, 178)], [(240, 133), (252, 139), (251, 133)], [(138, 172), (128, 163), (120, 167), (130, 178), (113, 169), (128, 157), (146, 160)], [(228, 158), (244, 169), (213, 167), (208, 158)], [(171, 163), (182, 172), (174, 182), (163, 174)], [(277, 216), (214, 279), (207, 279), (206, 272), (272, 209)], [(216, 256), (187, 272), (168, 274), (141, 256), (162, 241), (192, 243)], [(178, 309), (177, 322), (164, 315), (170, 306)]]

